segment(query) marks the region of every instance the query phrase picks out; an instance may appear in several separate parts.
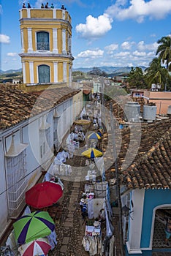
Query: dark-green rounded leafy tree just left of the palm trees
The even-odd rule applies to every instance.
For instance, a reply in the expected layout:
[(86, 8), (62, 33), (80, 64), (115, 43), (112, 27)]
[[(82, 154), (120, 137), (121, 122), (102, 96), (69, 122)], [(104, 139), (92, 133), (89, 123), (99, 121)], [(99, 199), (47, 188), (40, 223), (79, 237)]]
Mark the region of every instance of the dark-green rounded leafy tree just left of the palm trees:
[(140, 67), (132, 67), (127, 80), (129, 88), (143, 89), (146, 87), (145, 77)]

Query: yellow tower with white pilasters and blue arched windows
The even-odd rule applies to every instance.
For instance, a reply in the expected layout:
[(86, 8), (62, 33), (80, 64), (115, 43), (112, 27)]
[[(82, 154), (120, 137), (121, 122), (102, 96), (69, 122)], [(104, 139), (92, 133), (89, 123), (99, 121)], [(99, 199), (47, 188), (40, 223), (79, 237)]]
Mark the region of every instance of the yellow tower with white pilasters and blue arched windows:
[(20, 10), (23, 83), (26, 86), (71, 86), (72, 26), (69, 12), (61, 9)]

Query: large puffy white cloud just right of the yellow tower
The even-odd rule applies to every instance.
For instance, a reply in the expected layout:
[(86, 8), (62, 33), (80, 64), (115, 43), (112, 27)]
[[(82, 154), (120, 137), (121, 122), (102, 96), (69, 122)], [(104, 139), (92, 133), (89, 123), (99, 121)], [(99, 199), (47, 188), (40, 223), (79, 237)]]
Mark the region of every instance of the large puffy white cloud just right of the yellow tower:
[(109, 18), (107, 14), (100, 15), (98, 18), (94, 18), (91, 15), (88, 15), (86, 18), (86, 24), (80, 23), (76, 26), (77, 33), (81, 34), (81, 37), (86, 39), (104, 36), (107, 31), (112, 29), (111, 23), (113, 20)]

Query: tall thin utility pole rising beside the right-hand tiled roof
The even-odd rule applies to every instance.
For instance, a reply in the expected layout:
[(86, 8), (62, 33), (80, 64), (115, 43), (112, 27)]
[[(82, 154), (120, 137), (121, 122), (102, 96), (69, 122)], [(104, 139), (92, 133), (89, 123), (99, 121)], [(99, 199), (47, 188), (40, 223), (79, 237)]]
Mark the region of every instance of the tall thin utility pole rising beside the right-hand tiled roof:
[(115, 178), (116, 178), (116, 195), (118, 198), (118, 214), (119, 214), (119, 239), (121, 242), (121, 256), (124, 256), (124, 248), (123, 248), (123, 229), (122, 229), (122, 204), (121, 204), (121, 193), (120, 193), (120, 184), (118, 178), (118, 163), (117, 163), (117, 155), (115, 149), (115, 123), (113, 118), (113, 105), (110, 103), (110, 125), (111, 125), (111, 133), (113, 139), (113, 157), (115, 160)]

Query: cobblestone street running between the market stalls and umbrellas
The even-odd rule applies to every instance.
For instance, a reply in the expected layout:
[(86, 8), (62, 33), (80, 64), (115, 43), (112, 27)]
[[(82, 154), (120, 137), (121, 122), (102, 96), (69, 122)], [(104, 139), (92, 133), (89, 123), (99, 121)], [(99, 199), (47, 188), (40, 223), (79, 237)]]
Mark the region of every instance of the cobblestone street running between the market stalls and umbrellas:
[[(92, 129), (92, 127), (90, 127)], [(82, 147), (85, 142), (80, 143)], [(105, 145), (107, 145), (107, 140), (105, 140)], [(80, 149), (81, 150), (81, 149)], [(61, 178), (64, 183), (64, 195), (58, 200), (56, 206), (51, 206), (47, 208), (50, 216), (53, 217), (56, 222), (56, 234), (58, 244), (50, 251), (48, 255), (58, 255), (58, 256), (86, 256), (89, 252), (86, 252), (83, 245), (83, 237), (85, 235), (86, 221), (82, 219), (80, 211), (80, 198), (84, 192), (84, 186), (88, 183), (85, 181), (85, 176), (88, 167), (85, 167), (86, 157), (79, 156), (75, 154), (73, 159), (66, 161), (66, 164), (72, 165), (71, 177)], [(75, 166), (80, 165), (80, 166)], [(83, 171), (81, 167), (83, 166)], [(98, 176), (98, 174), (97, 174)], [(119, 241), (119, 225), (118, 225), (118, 215), (113, 216), (113, 226), (115, 233), (115, 246), (116, 255), (121, 255), (121, 245)], [(105, 227), (104, 227), (105, 228)]]

